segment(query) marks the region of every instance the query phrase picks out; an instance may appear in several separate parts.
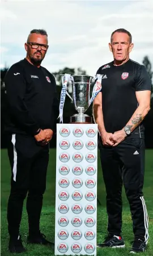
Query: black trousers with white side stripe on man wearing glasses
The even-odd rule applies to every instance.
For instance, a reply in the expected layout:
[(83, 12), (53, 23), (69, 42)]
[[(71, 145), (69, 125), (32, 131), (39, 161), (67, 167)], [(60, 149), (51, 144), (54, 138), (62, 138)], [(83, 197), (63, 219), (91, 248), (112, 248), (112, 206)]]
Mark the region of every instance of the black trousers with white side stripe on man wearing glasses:
[(34, 137), (20, 134), (8, 135), (7, 138), (12, 171), (7, 207), (8, 233), (12, 237), (18, 236), (23, 202), (27, 196), (29, 236), (37, 236), (46, 188), (49, 144), (42, 147), (36, 144)]

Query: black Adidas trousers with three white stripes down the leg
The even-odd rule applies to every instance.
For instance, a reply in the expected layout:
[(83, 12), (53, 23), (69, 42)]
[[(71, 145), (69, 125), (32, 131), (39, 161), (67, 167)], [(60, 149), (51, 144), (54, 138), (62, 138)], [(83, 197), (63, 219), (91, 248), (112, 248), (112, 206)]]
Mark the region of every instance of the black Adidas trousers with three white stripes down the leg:
[(122, 183), (130, 204), (135, 238), (148, 240), (148, 215), (143, 198), (145, 142), (127, 137), (116, 147), (99, 145), (107, 192), (108, 232), (120, 236), (122, 227)]

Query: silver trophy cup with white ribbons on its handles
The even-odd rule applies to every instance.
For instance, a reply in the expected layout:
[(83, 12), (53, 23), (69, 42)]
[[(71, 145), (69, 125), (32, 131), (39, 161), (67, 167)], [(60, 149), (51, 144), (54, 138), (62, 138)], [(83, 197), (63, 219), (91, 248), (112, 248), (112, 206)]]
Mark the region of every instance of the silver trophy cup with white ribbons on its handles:
[[(88, 107), (90, 107), (90, 104), (101, 90), (102, 76), (103, 75), (97, 74), (94, 78), (89, 75), (62, 75), (62, 91), (59, 105), (60, 123), (62, 121), (66, 94), (71, 99), (71, 102), (74, 103), (75, 110), (78, 111), (78, 114), (70, 117), (70, 123), (92, 123), (92, 117), (84, 114), (84, 112), (87, 111)], [(67, 92), (67, 86), (70, 85), (72, 86), (72, 97)]]

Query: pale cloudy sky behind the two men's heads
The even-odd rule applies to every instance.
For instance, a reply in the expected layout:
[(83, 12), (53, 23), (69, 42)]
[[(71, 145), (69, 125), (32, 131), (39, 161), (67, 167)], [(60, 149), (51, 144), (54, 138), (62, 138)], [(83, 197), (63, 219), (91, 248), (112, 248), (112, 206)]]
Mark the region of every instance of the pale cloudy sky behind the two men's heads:
[(125, 28), (133, 35), (130, 57), (153, 66), (153, 1), (1, 0), (1, 67), (25, 57), (24, 43), (33, 28), (44, 28), (49, 49), (42, 65), (50, 72), (69, 66), (94, 75), (112, 61), (108, 43), (112, 31)]

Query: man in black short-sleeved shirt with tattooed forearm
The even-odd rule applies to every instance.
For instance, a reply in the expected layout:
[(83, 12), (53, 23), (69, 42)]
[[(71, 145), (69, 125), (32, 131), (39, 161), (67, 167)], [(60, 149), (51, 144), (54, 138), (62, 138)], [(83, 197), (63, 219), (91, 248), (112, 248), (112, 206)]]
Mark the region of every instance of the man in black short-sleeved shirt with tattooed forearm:
[(131, 34), (123, 28), (111, 35), (114, 60), (97, 70), (103, 74), (94, 100), (100, 133), (100, 159), (107, 192), (108, 236), (99, 247), (125, 247), (121, 236), (122, 183), (130, 204), (134, 242), (130, 253), (145, 251), (148, 215), (143, 198), (145, 141), (143, 119), (150, 110), (151, 79), (145, 66), (129, 58)]

